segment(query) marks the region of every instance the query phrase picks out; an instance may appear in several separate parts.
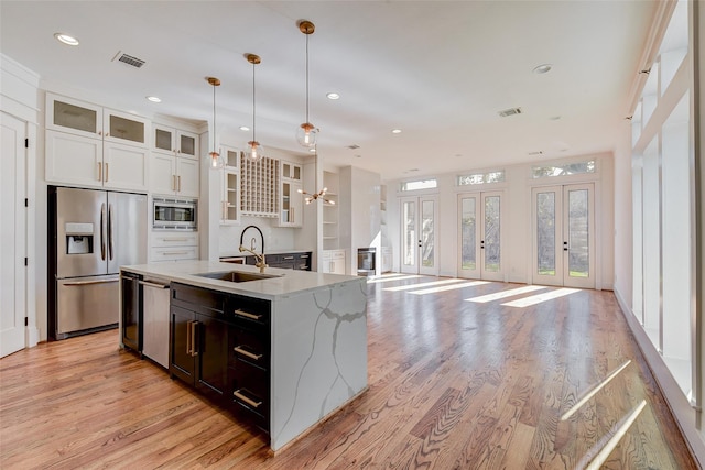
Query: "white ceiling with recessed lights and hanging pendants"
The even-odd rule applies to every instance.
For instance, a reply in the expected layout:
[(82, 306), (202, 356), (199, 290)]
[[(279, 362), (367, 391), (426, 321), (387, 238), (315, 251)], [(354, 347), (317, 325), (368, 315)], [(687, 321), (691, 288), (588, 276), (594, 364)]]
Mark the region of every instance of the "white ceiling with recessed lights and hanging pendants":
[[(153, 117), (213, 117), (236, 142), (257, 138), (305, 154), (310, 37), (311, 122), (326, 166), (383, 179), (611, 151), (657, 1), (8, 1), (1, 52), (42, 87)], [(80, 40), (69, 47), (54, 33)], [(112, 62), (139, 57), (137, 69)], [(550, 63), (545, 75), (532, 69)], [(337, 91), (337, 101), (326, 99)], [(148, 95), (162, 102), (151, 103)], [(498, 111), (522, 113), (500, 118)], [(558, 118), (560, 119), (555, 119)], [(393, 135), (391, 130), (402, 129)], [(348, 146), (359, 145), (350, 150)], [(412, 170), (416, 168), (416, 170)]]

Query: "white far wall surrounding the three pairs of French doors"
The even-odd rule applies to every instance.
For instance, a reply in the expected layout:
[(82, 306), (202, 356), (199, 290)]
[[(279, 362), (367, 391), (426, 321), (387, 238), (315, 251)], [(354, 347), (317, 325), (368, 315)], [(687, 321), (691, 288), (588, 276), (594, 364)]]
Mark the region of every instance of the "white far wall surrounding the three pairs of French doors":
[[(567, 163), (595, 159), (598, 165), (596, 174), (573, 175), (553, 178), (533, 179), (533, 164)], [(506, 282), (530, 283), (532, 270), (531, 233), (531, 188), (534, 186), (595, 183), (596, 241), (595, 250), (599, 271), (596, 273), (597, 288), (611, 289), (614, 284), (614, 164), (611, 154), (581, 155), (577, 157), (533, 162), (532, 164), (468, 168), (463, 173), (479, 173), (505, 170), (505, 182), (477, 186), (456, 186), (456, 174), (430, 175), (438, 181), (436, 189), (423, 192), (399, 190), (402, 181), (387, 182), (389, 239), (393, 247), (393, 270), (400, 271), (400, 208), (399, 198), (420, 194), (435, 194), (438, 198), (438, 262), (441, 276), (457, 275), (458, 225), (457, 195), (480, 190), (501, 190), (502, 197), (502, 263)], [(480, 187), (481, 186), (481, 187)]]

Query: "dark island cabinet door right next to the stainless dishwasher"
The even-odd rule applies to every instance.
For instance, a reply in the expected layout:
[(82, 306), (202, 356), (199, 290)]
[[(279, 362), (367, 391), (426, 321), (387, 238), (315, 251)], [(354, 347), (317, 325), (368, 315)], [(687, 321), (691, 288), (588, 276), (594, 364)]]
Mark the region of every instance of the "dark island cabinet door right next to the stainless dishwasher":
[(171, 306), (169, 372), (188, 384), (194, 384), (195, 360), (192, 353), (192, 323), (196, 314), (181, 307)]

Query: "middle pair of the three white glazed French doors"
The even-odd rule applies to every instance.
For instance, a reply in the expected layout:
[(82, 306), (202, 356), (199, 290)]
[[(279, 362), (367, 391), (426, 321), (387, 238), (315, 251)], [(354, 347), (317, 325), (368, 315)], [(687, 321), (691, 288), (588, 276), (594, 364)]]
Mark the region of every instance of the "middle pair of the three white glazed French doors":
[(502, 193), (458, 195), (458, 277), (503, 281)]

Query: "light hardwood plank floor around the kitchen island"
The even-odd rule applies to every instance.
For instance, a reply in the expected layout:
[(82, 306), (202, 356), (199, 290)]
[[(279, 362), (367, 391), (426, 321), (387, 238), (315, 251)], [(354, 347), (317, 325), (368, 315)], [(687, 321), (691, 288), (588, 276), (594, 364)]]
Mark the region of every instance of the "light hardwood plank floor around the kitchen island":
[(697, 468), (611, 292), (521, 308), (502, 304), (534, 293), (465, 302), (516, 284), (386, 291), (433, 281), (369, 284), (369, 390), (275, 456), (117, 330), (3, 358), (0, 468), (575, 469), (642, 401), (604, 468)]

